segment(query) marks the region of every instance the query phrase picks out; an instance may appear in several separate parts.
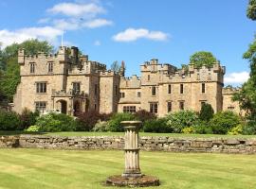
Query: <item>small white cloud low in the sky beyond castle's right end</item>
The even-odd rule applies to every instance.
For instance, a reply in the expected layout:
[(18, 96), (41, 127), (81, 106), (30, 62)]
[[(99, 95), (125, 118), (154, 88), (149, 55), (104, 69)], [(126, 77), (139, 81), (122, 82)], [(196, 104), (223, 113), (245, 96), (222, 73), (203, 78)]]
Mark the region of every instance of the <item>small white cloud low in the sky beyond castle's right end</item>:
[(247, 81), (249, 77), (249, 73), (244, 72), (233, 72), (227, 74), (227, 76), (224, 77), (224, 83), (227, 84), (242, 84)]

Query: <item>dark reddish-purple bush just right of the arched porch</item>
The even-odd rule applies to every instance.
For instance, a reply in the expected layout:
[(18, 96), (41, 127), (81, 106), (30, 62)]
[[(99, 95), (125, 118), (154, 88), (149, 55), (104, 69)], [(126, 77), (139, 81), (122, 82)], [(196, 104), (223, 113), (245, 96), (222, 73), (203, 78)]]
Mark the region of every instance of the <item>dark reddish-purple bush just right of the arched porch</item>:
[(78, 115), (78, 121), (80, 127), (78, 130), (80, 131), (89, 131), (94, 128), (96, 123), (101, 120), (101, 121), (107, 121), (109, 120), (111, 114), (106, 114), (106, 113), (99, 113), (96, 111), (89, 111), (89, 112), (84, 112)]

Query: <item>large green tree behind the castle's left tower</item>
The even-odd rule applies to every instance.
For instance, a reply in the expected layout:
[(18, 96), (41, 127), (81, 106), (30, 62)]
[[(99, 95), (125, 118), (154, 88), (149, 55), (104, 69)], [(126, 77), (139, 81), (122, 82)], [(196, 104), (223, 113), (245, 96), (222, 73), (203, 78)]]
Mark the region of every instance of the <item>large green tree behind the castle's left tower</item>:
[[(27, 40), (23, 43), (12, 43), (1, 51), (0, 61), (4, 66), (3, 76), (0, 76), (0, 91), (8, 101), (12, 101), (13, 94), (20, 82), (20, 69), (18, 65), (18, 50), (25, 48), (27, 54), (36, 54), (39, 51), (51, 53), (53, 46), (46, 41)], [(0, 99), (3, 101), (3, 99)]]

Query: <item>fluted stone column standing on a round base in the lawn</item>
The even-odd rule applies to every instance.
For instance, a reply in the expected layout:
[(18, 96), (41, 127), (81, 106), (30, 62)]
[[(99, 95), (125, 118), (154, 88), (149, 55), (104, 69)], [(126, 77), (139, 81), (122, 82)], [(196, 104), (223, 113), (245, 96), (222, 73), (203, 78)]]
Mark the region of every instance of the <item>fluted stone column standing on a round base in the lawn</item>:
[(138, 129), (141, 126), (141, 121), (122, 121), (121, 125), (125, 130), (125, 169), (121, 176), (125, 178), (141, 177), (138, 155)]

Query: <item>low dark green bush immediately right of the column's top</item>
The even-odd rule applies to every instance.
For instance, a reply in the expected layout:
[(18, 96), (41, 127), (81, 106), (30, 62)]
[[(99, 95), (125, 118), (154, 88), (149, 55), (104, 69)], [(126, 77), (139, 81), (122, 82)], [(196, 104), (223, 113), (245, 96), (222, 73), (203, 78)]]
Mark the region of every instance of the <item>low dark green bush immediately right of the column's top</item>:
[(173, 129), (167, 126), (166, 118), (158, 118), (155, 120), (147, 120), (143, 124), (143, 130), (145, 132), (172, 132)]

